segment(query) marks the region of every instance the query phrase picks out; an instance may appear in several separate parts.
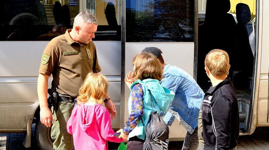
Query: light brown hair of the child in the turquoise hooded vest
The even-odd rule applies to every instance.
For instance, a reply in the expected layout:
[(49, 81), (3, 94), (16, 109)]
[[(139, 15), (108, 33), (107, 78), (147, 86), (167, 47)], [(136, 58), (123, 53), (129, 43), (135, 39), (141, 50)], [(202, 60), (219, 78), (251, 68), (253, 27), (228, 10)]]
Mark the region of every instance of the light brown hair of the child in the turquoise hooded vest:
[(158, 58), (151, 53), (138, 53), (133, 57), (133, 82), (137, 79), (157, 79), (163, 78), (163, 69)]

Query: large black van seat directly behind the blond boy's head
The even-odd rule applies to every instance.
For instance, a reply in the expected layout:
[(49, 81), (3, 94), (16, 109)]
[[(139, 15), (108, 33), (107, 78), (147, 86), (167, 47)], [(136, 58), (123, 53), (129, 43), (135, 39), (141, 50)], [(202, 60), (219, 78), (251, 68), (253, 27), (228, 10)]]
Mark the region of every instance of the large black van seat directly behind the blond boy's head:
[(207, 0), (205, 10), (205, 22), (198, 26), (198, 66), (197, 83), (203, 88), (207, 83), (204, 73), (204, 61), (206, 54), (213, 49), (225, 50), (230, 57), (229, 77), (233, 74), (233, 52), (236, 48), (236, 22), (232, 14), (229, 14), (230, 0)]

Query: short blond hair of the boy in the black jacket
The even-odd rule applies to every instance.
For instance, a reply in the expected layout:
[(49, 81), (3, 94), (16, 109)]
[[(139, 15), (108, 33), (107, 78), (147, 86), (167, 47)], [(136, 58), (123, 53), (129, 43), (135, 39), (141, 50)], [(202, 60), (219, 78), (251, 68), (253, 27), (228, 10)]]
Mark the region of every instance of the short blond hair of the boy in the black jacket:
[(214, 77), (229, 74), (229, 55), (224, 50), (211, 50), (205, 57), (205, 66)]

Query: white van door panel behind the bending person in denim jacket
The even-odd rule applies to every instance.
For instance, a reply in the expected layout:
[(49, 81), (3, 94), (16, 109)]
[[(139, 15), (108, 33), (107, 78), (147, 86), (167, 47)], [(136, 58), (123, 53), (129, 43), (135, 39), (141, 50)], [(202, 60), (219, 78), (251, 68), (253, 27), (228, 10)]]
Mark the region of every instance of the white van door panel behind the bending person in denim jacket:
[[(146, 47), (158, 47), (162, 50), (162, 56), (166, 64), (177, 66), (193, 76), (194, 43), (193, 42), (126, 42), (125, 43), (125, 77), (133, 72), (133, 57)], [(124, 84), (124, 123), (128, 120), (128, 98), (130, 89)], [(122, 125), (123, 126), (123, 125)], [(180, 126), (177, 119), (169, 126), (169, 140), (184, 140), (187, 130)]]

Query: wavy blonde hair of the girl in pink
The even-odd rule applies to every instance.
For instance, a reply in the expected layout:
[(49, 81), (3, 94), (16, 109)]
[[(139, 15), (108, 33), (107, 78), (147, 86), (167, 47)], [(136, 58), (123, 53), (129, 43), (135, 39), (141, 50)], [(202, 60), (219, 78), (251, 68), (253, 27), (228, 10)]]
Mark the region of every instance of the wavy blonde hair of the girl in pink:
[(90, 97), (95, 99), (95, 102), (102, 104), (108, 88), (108, 80), (100, 73), (88, 73), (85, 80), (82, 82), (77, 97), (77, 104), (88, 102)]

